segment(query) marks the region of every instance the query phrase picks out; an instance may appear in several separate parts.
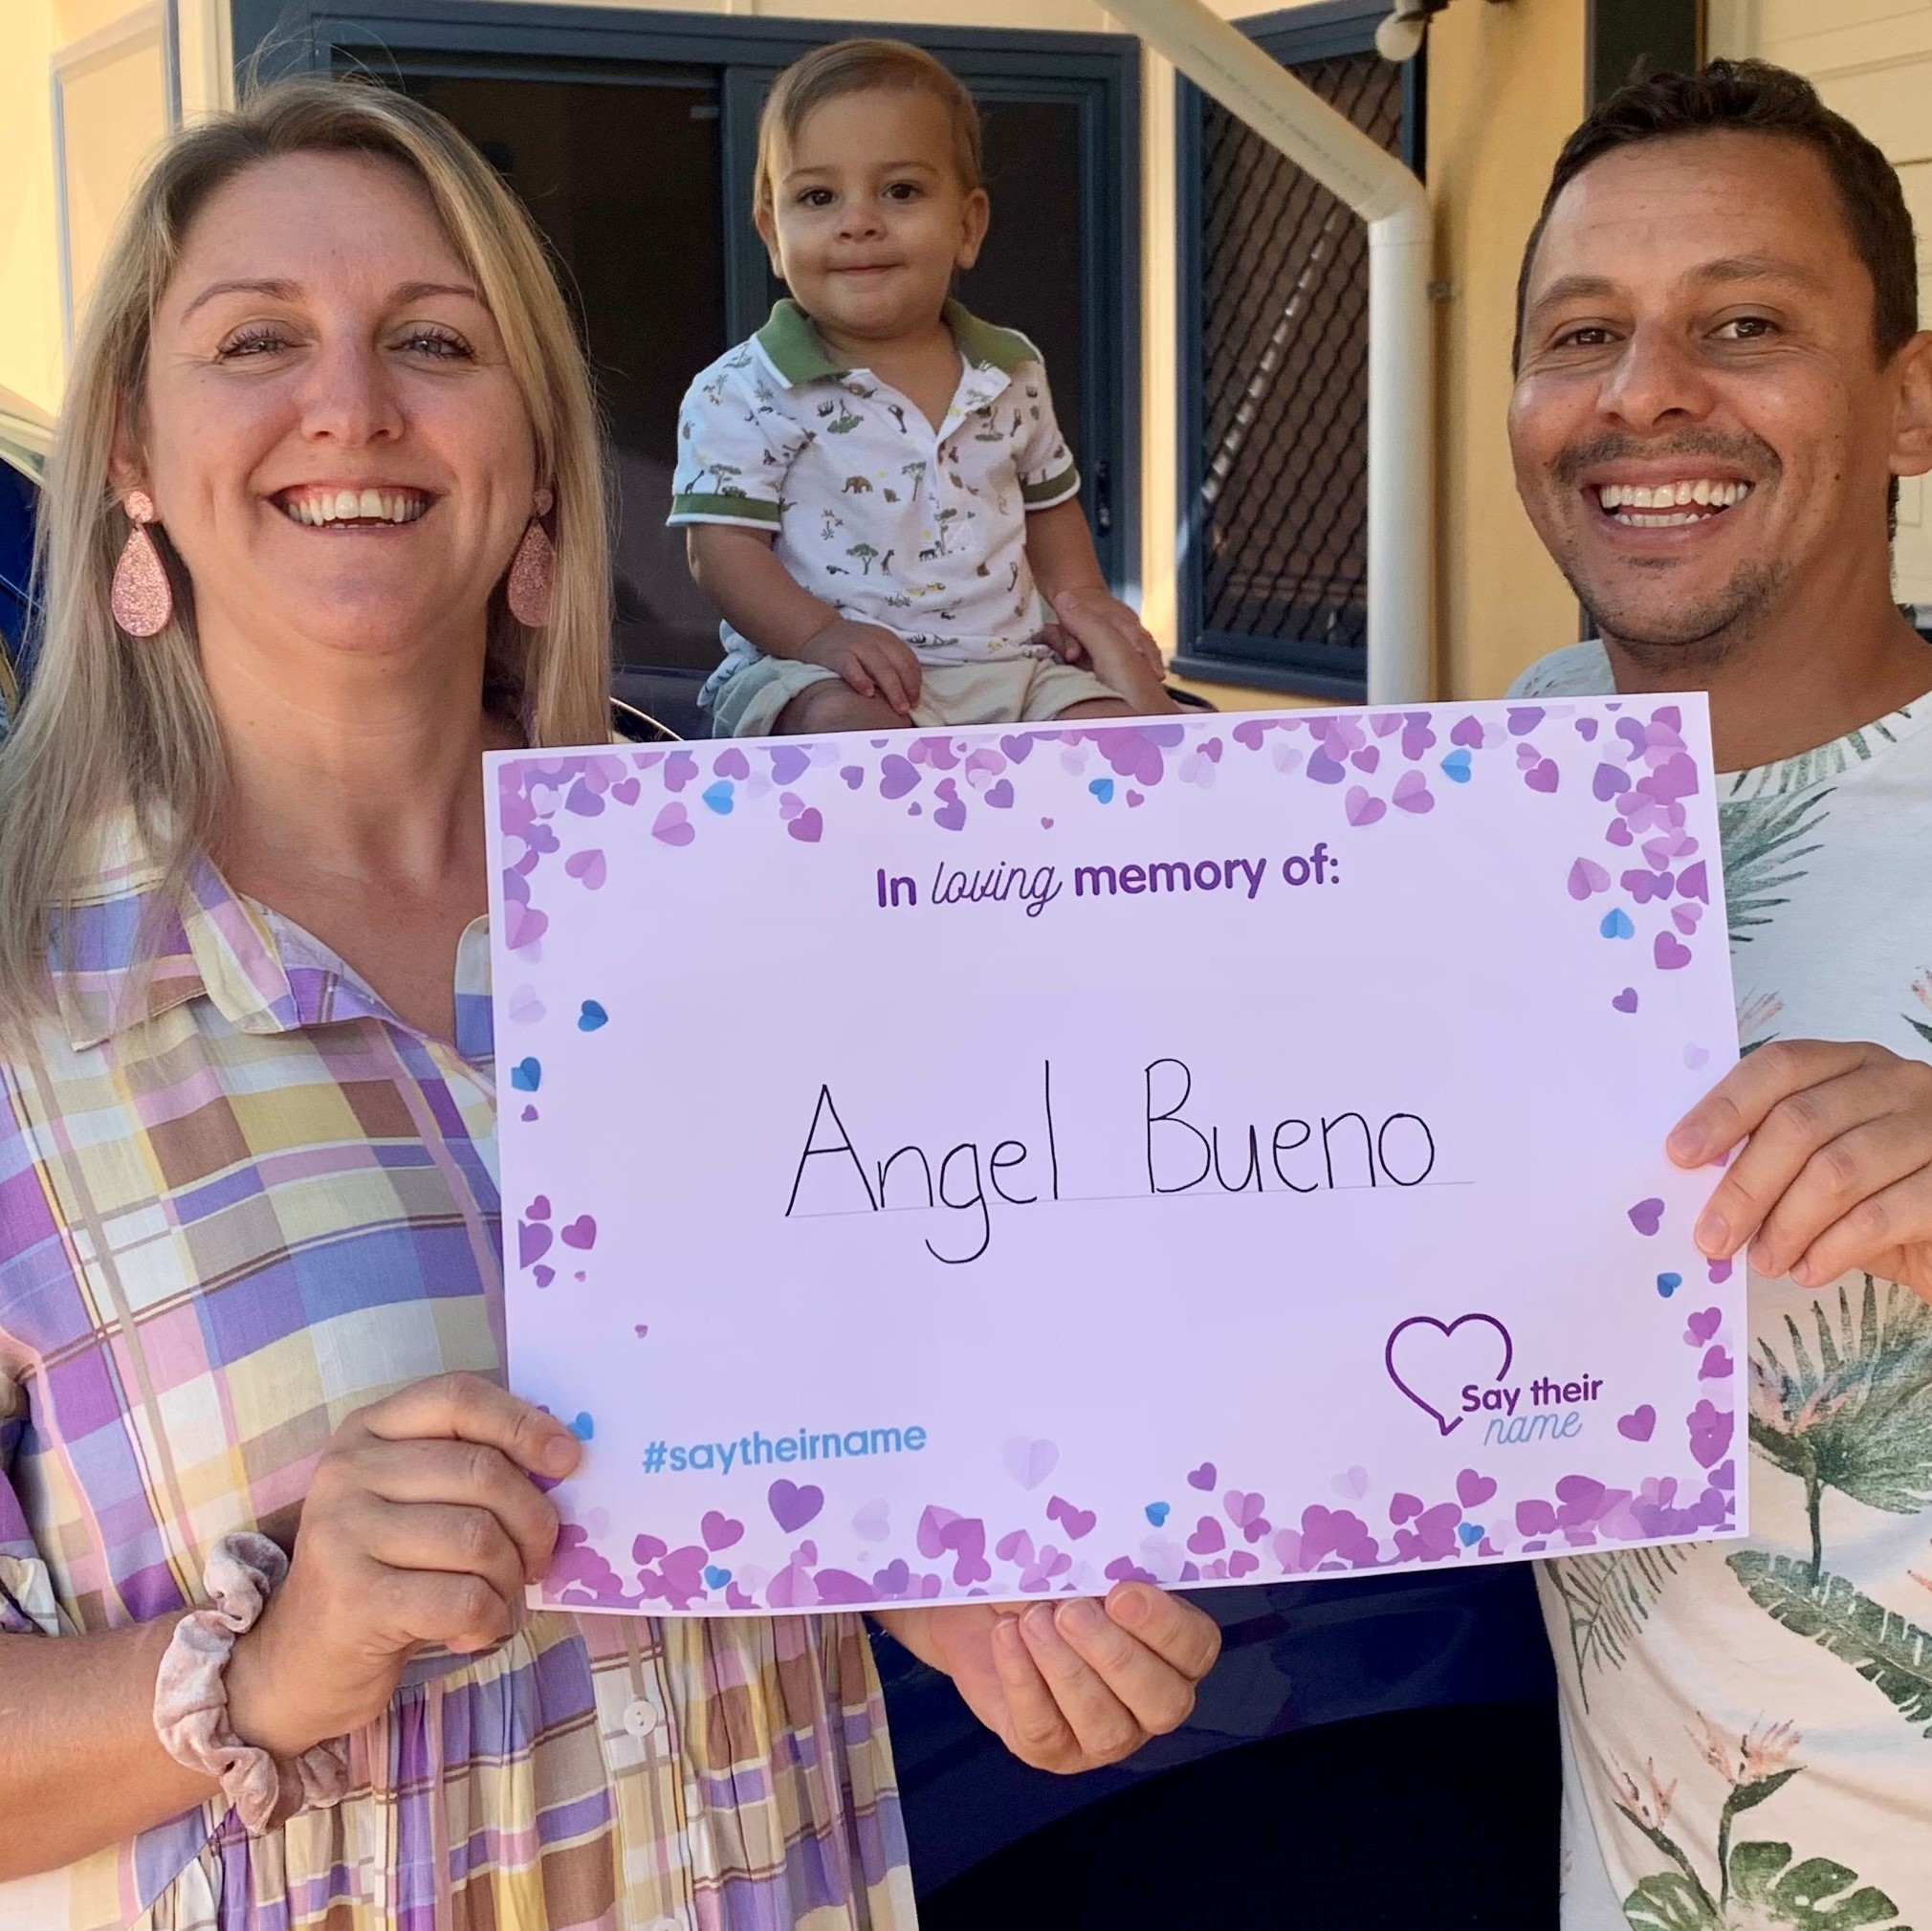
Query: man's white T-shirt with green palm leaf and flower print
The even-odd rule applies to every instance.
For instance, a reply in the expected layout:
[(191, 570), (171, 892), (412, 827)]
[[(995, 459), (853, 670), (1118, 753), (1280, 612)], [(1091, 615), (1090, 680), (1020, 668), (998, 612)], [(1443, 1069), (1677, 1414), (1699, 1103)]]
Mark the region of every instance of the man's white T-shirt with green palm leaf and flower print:
[[(1513, 695), (1611, 691), (1584, 643)], [(1932, 699), (1718, 798), (1745, 1050), (1932, 1058)], [(1748, 1539), (1538, 1564), (1565, 1931), (1932, 1927), (1932, 1307), (1862, 1273), (1748, 1300)]]

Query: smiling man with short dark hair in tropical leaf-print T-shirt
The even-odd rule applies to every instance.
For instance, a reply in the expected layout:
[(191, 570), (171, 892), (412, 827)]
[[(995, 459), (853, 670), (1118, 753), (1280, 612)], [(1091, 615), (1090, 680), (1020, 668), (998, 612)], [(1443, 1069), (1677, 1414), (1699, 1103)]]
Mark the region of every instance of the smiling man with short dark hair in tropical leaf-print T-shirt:
[(1932, 651), (1888, 504), (1932, 469), (1932, 336), (1886, 158), (1756, 62), (1627, 87), (1530, 238), (1509, 427), (1600, 626), (1517, 691), (1710, 693), (1747, 1047), (1669, 1151), (1729, 1159), (1696, 1232), (1714, 1280), (1748, 1259), (1748, 1332), (1694, 1284), (1638, 1319), (1748, 1357), (1712, 1479), (1750, 1537), (1540, 1566), (1563, 1925), (1926, 1925)]

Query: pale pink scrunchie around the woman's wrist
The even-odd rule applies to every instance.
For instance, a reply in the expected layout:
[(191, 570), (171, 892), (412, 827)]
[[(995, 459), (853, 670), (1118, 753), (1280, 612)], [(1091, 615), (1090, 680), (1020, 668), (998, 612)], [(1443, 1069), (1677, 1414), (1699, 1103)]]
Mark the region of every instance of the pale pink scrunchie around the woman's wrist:
[(278, 1815), (340, 1804), (350, 1782), (340, 1744), (315, 1744), (294, 1763), (278, 1763), (267, 1749), (243, 1744), (228, 1722), (226, 1672), (236, 1637), (255, 1628), (269, 1591), (286, 1574), (288, 1556), (267, 1535), (224, 1535), (201, 1576), (214, 1607), (193, 1609), (174, 1626), (155, 1676), (155, 1734), (162, 1748), (222, 1786), (249, 1836), (261, 1836)]

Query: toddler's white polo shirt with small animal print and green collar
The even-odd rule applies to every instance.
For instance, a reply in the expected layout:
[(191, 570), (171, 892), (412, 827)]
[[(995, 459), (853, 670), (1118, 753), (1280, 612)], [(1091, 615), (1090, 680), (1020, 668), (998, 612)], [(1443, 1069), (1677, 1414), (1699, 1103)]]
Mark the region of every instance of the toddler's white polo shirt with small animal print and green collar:
[[(947, 303), (960, 380), (939, 429), (867, 369), (833, 361), (811, 319), (771, 321), (705, 369), (678, 417), (672, 523), (773, 537), (842, 616), (883, 624), (925, 664), (1051, 655), (1026, 518), (1080, 492), (1039, 350)], [(755, 658), (728, 624), (711, 687)]]

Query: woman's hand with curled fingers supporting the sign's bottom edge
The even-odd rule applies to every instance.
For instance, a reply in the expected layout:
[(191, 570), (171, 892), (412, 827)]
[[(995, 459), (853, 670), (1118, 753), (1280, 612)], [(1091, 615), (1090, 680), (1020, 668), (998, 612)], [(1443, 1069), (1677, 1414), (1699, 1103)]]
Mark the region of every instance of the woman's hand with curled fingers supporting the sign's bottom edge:
[(945, 1670), (1022, 1763), (1061, 1773), (1119, 1763), (1179, 1728), (1221, 1653), (1211, 1616), (1144, 1581), (1105, 1601), (896, 1609), (879, 1622)]

